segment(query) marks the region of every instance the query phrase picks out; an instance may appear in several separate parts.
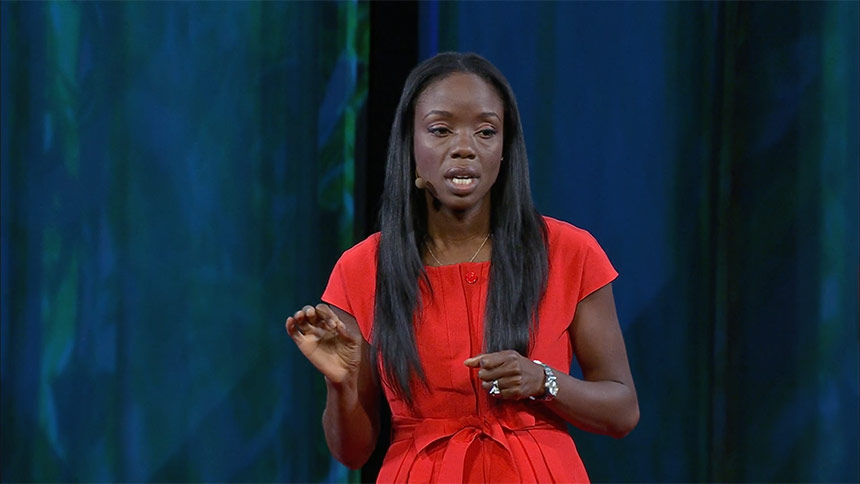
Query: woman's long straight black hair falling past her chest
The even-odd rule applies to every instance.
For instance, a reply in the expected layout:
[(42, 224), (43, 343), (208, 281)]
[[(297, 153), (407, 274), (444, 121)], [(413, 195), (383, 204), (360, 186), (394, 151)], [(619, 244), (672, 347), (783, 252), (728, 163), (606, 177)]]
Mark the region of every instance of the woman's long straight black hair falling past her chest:
[(453, 73), (484, 79), (504, 103), (503, 159), (490, 197), (493, 251), (485, 351), (514, 349), (528, 354), (549, 272), (546, 226), (532, 202), (519, 110), (507, 79), (477, 54), (447, 52), (422, 62), (406, 79), (388, 141), (372, 335), (374, 360), (381, 357), (384, 377), (398, 396), (409, 402), (413, 378), (426, 381), (413, 320), (420, 324), (420, 318), (414, 318), (420, 308), (419, 282), (423, 278), (429, 285), (421, 260), (427, 239), (426, 199), (414, 184), (414, 110), (424, 89)]

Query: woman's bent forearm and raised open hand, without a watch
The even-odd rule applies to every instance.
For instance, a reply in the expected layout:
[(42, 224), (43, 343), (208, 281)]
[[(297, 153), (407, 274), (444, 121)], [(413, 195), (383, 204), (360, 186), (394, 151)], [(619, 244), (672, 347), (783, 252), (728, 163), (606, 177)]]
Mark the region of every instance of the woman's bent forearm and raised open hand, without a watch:
[(351, 469), (367, 461), (379, 435), (379, 392), (370, 345), (355, 318), (325, 304), (287, 319), (287, 332), (326, 380), (323, 429), (332, 455)]

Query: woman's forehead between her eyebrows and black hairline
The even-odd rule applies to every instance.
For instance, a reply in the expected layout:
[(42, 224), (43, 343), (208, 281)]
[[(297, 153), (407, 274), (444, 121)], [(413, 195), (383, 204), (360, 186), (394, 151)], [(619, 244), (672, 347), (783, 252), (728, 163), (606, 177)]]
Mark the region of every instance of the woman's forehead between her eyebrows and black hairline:
[(490, 83), (475, 74), (458, 72), (433, 81), (418, 96), (416, 114), (433, 109), (495, 112), (501, 117), (504, 105)]

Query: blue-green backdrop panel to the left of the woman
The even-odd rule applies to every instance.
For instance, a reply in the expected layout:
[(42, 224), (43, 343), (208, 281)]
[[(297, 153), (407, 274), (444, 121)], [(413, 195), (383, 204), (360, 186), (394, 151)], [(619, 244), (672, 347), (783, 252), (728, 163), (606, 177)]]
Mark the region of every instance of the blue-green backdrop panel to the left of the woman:
[(283, 323), (352, 242), (367, 5), (0, 8), (3, 481), (344, 479)]

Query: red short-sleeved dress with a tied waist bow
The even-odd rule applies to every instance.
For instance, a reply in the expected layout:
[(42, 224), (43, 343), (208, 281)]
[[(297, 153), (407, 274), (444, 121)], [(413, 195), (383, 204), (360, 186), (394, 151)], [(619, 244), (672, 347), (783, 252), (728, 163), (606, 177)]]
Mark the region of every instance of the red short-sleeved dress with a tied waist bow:
[[(567, 372), (568, 327), (576, 305), (618, 275), (586, 231), (544, 217), (549, 281), (531, 359)], [(344, 252), (323, 301), (353, 315), (370, 341), (376, 288), (374, 234)], [(541, 402), (490, 401), (477, 371), (463, 361), (482, 353), (489, 262), (425, 267), (434, 298), (422, 290), (418, 354), (428, 387), (413, 386), (414, 404), (383, 381), (392, 439), (378, 482), (588, 482), (565, 422)]]

